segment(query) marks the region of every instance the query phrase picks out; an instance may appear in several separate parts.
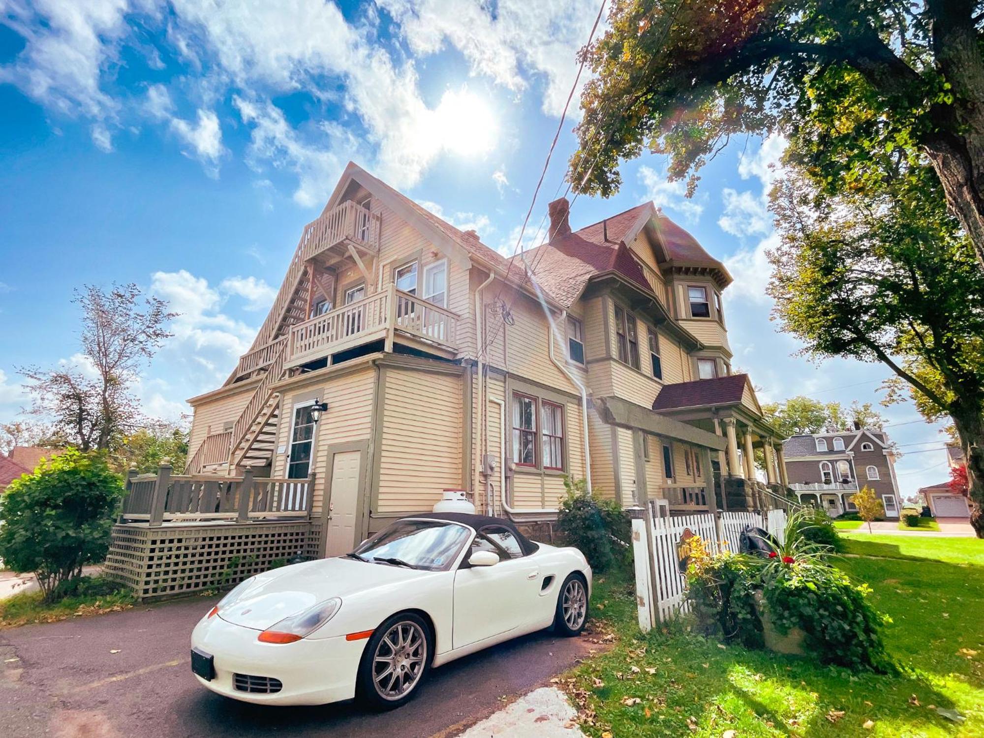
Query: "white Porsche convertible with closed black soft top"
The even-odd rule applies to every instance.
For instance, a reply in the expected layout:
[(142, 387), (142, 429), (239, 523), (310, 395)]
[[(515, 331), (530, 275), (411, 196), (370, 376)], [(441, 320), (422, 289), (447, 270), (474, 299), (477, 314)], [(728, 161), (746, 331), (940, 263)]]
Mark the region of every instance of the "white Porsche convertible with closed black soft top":
[(404, 518), (352, 553), (275, 569), (230, 591), (191, 637), (203, 686), (245, 702), (399, 707), (432, 666), (587, 620), (576, 548), (462, 513)]

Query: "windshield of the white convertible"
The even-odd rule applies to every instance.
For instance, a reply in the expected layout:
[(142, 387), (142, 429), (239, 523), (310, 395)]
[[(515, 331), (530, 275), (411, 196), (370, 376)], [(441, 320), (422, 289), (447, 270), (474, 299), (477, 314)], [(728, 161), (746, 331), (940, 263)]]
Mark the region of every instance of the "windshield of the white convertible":
[(471, 531), (458, 523), (398, 521), (355, 549), (368, 561), (441, 572), (451, 568)]

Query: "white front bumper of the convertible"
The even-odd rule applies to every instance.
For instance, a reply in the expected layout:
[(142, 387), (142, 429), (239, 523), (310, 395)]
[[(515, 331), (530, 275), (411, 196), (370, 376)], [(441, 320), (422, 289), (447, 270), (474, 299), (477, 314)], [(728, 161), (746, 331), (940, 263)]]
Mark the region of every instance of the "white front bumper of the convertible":
[[(195, 678), (219, 695), (257, 705), (325, 705), (355, 696), (365, 640), (338, 636), (263, 644), (257, 641), (259, 635), (217, 615), (201, 620), (191, 645), (215, 657), (215, 678)], [(273, 694), (242, 692), (234, 687), (233, 674), (271, 677), (280, 680), (282, 688)]]

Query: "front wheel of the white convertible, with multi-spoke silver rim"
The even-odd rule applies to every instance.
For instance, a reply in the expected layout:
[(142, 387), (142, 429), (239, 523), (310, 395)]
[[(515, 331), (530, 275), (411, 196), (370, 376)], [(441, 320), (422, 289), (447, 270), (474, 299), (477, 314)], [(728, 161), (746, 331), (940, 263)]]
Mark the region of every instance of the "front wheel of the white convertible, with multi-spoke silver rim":
[(416, 613), (397, 613), (386, 620), (362, 653), (361, 700), (377, 709), (393, 709), (409, 701), (427, 676), (431, 644), (430, 628)]

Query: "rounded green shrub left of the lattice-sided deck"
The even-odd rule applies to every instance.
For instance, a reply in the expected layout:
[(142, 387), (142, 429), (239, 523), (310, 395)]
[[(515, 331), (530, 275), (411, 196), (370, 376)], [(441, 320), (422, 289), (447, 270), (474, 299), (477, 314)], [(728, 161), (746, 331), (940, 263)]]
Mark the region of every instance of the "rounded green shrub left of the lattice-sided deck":
[(59, 584), (105, 557), (122, 496), (122, 480), (101, 455), (70, 449), (41, 461), (0, 497), (0, 559), (33, 572), (52, 601)]

